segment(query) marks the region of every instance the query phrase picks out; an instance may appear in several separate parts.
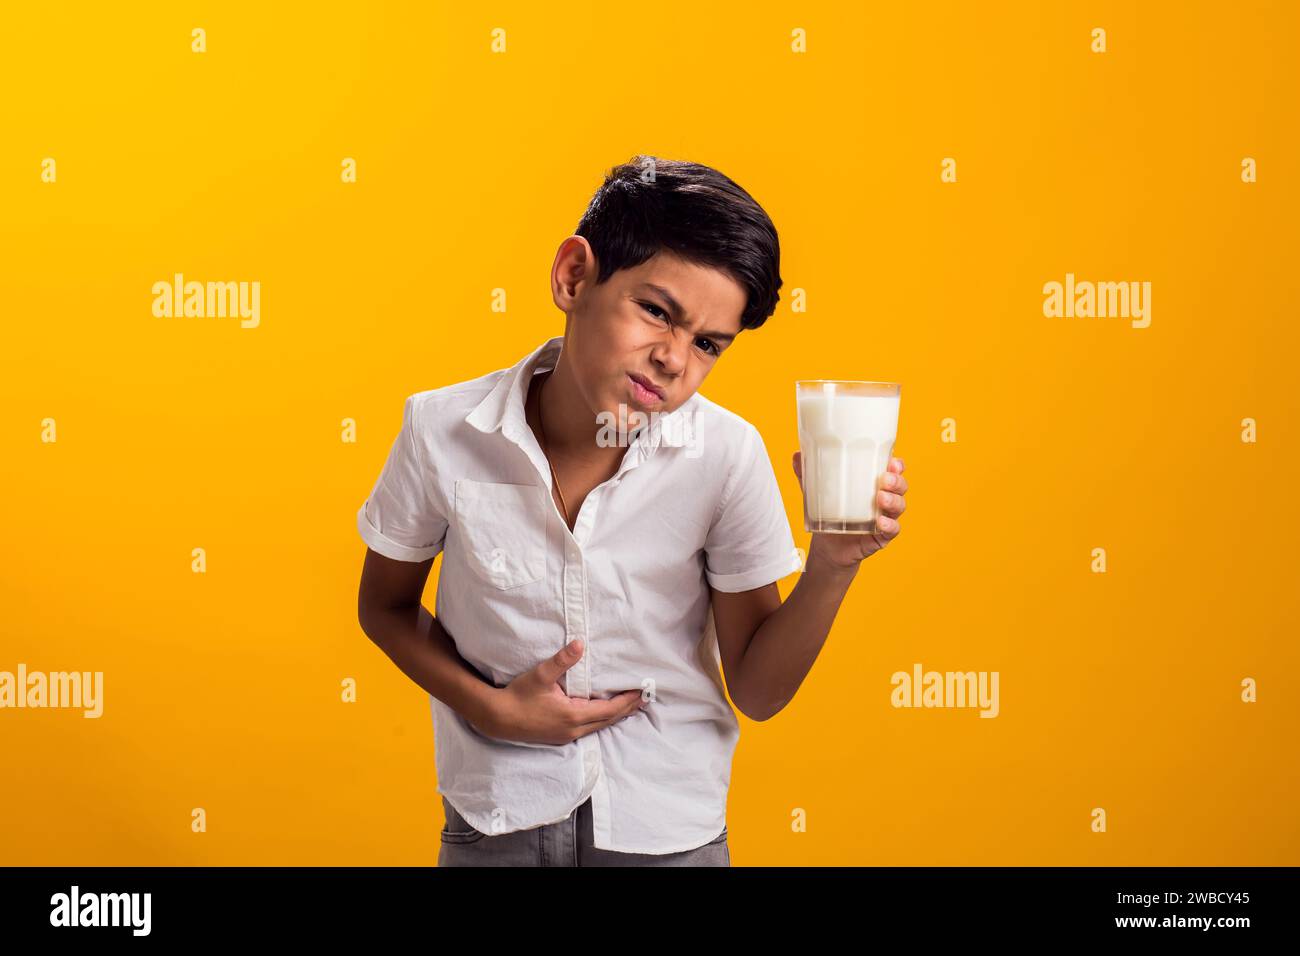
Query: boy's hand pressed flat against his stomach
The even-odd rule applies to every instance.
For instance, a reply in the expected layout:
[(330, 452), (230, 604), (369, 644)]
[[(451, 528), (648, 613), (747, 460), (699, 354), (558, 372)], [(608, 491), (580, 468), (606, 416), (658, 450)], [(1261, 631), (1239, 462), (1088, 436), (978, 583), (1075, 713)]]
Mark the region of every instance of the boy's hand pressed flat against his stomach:
[(641, 710), (640, 689), (623, 691), (608, 700), (564, 693), (559, 680), (581, 659), (581, 643), (572, 641), (506, 687), (497, 688), (491, 714), (482, 722), (485, 726), (476, 724), (476, 728), (500, 740), (567, 744)]

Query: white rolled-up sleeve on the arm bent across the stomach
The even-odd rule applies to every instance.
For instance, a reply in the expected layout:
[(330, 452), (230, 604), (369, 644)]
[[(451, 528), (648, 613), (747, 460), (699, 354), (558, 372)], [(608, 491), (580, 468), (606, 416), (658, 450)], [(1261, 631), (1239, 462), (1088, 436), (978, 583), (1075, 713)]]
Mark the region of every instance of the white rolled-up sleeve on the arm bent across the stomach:
[(356, 512), (356, 528), (370, 550), (394, 561), (429, 561), (447, 537), (447, 518), (437, 507), (433, 473), (421, 455), (416, 397), (410, 395), (374, 489)]

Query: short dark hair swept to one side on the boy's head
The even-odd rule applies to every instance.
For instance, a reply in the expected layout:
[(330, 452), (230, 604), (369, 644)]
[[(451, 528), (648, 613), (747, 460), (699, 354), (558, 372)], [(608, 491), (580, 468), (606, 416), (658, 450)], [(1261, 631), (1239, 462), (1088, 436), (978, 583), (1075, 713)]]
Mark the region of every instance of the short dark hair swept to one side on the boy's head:
[(781, 245), (776, 226), (744, 189), (698, 163), (634, 156), (611, 169), (577, 224), (595, 252), (595, 284), (667, 250), (720, 269), (745, 289), (742, 329), (776, 311)]

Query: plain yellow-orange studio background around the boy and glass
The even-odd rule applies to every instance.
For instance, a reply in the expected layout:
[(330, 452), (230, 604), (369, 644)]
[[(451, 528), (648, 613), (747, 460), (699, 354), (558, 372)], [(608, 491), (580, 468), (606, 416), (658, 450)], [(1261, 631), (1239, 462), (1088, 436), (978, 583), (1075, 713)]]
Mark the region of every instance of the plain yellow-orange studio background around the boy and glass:
[[(0, 711), (0, 862), (433, 864), (355, 514), (406, 395), (563, 330), (555, 250), (637, 152), (780, 230), (701, 392), (801, 546), (793, 382), (904, 384), (902, 535), (741, 718), (733, 864), (1300, 862), (1294, 5), (133, 7), (0, 33), (0, 670), (105, 674), (98, 721)], [(260, 328), (155, 319), (176, 272), (260, 281)], [(1066, 272), (1150, 281), (1150, 326), (1044, 317)], [(998, 671), (1001, 714), (893, 709), (914, 662)]]

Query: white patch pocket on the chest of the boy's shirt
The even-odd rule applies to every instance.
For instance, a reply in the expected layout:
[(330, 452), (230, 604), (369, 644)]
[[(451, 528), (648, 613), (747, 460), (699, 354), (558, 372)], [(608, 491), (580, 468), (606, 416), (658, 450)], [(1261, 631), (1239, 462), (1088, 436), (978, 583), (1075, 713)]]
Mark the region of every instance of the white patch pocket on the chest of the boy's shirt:
[(546, 574), (546, 489), (458, 479), (456, 524), (465, 561), (500, 591)]

